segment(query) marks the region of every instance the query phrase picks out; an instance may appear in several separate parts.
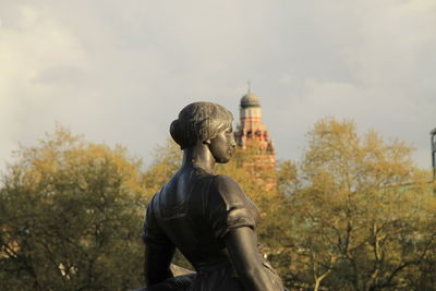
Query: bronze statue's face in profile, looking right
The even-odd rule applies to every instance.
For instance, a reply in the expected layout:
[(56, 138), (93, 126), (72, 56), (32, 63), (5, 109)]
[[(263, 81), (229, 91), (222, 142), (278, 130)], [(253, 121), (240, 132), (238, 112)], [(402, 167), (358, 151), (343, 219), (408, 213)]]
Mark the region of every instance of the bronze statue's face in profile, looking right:
[(233, 131), (230, 125), (227, 130), (217, 134), (214, 140), (210, 140), (209, 150), (216, 162), (226, 163), (233, 156), (235, 145)]

